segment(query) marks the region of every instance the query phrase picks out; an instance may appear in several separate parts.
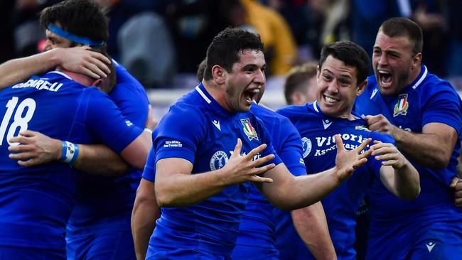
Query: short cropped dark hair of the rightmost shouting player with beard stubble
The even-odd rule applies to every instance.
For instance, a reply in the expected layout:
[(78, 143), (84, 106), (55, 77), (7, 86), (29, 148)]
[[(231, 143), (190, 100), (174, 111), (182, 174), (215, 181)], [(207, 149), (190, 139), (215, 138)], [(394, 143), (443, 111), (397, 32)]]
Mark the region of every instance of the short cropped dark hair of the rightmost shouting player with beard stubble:
[(379, 31), (385, 33), (389, 37), (407, 37), (414, 44), (412, 55), (422, 52), (424, 45), (424, 36), (420, 26), (414, 21), (405, 17), (394, 17), (383, 22)]

